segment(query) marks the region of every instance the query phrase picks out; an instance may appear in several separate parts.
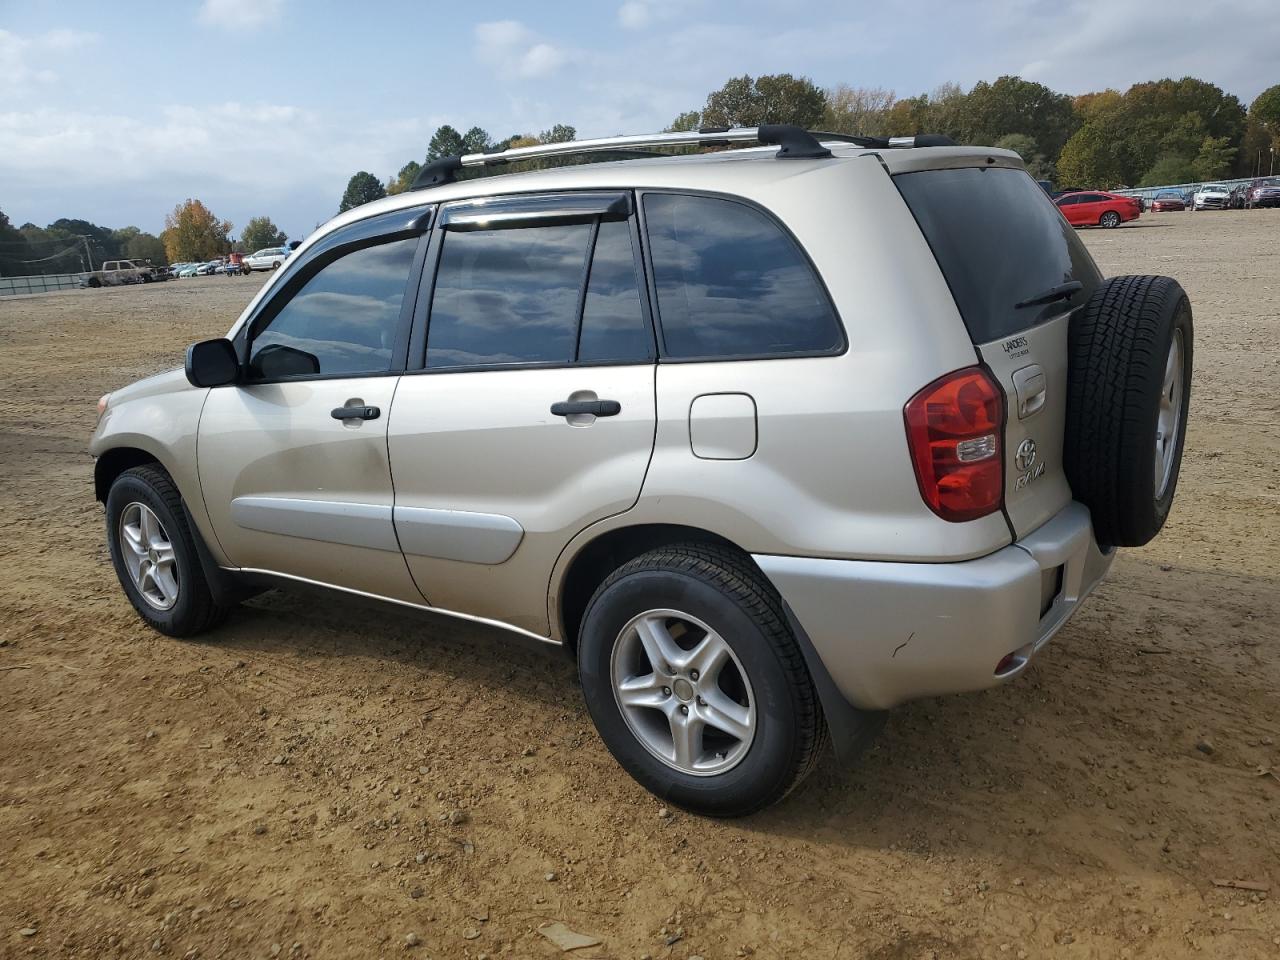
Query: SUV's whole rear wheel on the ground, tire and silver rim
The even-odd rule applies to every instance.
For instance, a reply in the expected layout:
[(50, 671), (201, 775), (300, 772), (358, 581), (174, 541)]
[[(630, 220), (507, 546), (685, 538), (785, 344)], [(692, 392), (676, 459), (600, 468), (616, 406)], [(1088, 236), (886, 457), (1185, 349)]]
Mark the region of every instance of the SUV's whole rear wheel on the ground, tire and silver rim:
[(595, 591), (579, 640), (605, 746), (657, 796), (740, 817), (813, 769), (827, 727), (781, 598), (707, 544), (643, 554)]

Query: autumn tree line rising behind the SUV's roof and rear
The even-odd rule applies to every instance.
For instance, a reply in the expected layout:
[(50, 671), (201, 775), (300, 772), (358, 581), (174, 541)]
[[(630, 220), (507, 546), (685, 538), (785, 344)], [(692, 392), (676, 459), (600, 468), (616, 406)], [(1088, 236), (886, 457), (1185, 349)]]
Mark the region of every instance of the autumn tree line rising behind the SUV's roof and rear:
[[(1235, 95), (1196, 77), (1071, 96), (1005, 76), (969, 90), (945, 83), (931, 93), (899, 97), (883, 87), (846, 83), (823, 90), (790, 73), (742, 76), (708, 93), (700, 109), (676, 116), (667, 131), (762, 123), (874, 137), (941, 133), (957, 143), (1012, 150), (1037, 179), (1115, 189), (1267, 175), (1272, 151), (1280, 148), (1280, 84), (1245, 108)], [(480, 127), (461, 133), (444, 125), (431, 137), (421, 163), (408, 161), (385, 182), (367, 170), (355, 174), (338, 210), (408, 189), (424, 164), (442, 156), (575, 137), (568, 124), (502, 141), (493, 141)], [(484, 170), (462, 175), (484, 175)]]

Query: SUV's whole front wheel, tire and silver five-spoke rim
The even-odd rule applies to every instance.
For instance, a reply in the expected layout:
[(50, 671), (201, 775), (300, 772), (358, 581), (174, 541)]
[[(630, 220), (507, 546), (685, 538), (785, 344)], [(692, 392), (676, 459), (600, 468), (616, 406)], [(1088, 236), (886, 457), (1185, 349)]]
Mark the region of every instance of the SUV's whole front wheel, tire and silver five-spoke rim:
[(178, 488), (159, 466), (125, 470), (111, 484), (106, 540), (125, 596), (161, 634), (192, 636), (225, 616), (205, 580)]

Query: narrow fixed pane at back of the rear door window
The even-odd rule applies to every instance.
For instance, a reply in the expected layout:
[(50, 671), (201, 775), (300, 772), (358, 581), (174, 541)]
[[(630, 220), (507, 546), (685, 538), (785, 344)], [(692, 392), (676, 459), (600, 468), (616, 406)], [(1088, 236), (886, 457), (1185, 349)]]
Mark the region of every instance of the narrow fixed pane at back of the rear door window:
[(649, 355), (631, 227), (622, 220), (602, 223), (586, 283), (577, 358), (640, 360)]

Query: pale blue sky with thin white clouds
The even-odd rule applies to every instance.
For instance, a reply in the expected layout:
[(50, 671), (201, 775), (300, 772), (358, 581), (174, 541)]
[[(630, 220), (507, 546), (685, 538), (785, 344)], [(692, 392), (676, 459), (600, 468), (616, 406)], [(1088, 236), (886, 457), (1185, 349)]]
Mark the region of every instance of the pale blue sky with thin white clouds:
[(914, 96), (1012, 73), (1082, 93), (1280, 82), (1277, 0), (0, 0), (0, 210), (159, 233), (198, 197), (302, 238), (347, 179), (495, 140), (660, 131), (727, 78)]

